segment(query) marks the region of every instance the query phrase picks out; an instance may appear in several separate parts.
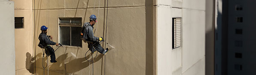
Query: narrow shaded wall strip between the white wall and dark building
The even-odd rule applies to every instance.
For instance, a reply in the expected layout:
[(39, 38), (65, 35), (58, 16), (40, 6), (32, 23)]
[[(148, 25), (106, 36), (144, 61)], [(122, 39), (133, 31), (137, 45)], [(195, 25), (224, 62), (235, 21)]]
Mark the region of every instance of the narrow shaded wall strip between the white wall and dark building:
[(214, 75), (215, 0), (206, 0), (205, 3), (205, 75)]

